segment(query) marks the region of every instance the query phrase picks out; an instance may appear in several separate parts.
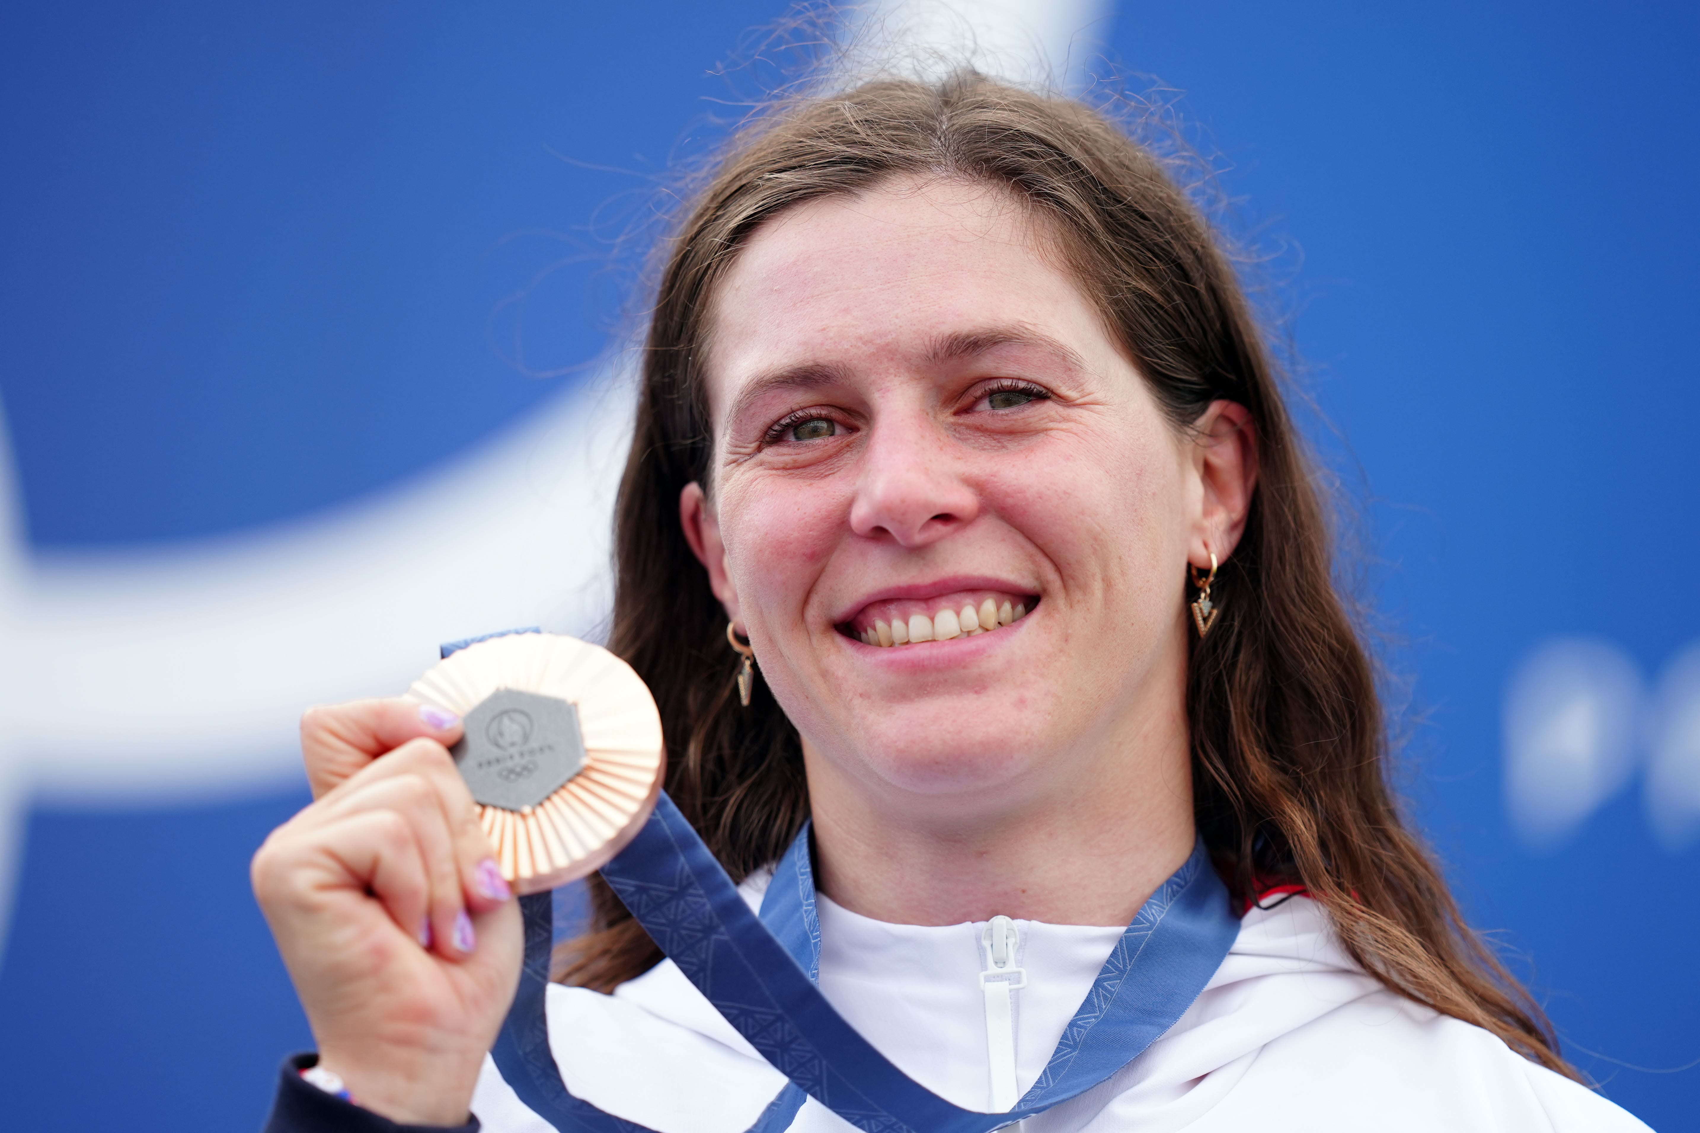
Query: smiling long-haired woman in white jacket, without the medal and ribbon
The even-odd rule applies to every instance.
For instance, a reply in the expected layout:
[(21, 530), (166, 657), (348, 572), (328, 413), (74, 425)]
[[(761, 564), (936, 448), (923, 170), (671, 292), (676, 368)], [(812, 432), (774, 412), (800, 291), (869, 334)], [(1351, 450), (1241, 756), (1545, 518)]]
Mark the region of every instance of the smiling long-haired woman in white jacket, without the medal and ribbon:
[[(978, 75), (877, 82), (751, 127), (670, 250), (610, 647), (750, 905), (813, 868), (819, 989), (874, 1048), (1015, 1113), (1207, 861), (1244, 912), (1226, 956), (1030, 1133), (1642, 1128), (1401, 826), (1324, 501), (1149, 153)], [(320, 1045), (277, 1130), (547, 1128), (484, 1058), (520, 926), (457, 736), (400, 700), (304, 720), (318, 798), (253, 870)], [(547, 997), (566, 1087), (653, 1130), (784, 1128), (784, 1075), (592, 893)], [(852, 1126), (811, 1097), (789, 1128)]]

